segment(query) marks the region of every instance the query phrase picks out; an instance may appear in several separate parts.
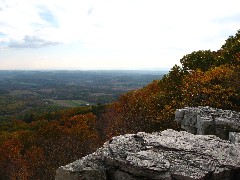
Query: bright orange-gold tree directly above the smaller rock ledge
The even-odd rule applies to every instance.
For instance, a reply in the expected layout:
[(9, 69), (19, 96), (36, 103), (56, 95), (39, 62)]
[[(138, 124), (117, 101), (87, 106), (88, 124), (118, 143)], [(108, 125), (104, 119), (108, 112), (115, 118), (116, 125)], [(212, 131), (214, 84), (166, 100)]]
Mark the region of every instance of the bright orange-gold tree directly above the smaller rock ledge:
[(212, 106), (223, 109), (236, 109), (239, 94), (232, 86), (235, 67), (222, 65), (206, 72), (196, 70), (183, 80), (183, 101), (185, 106)]

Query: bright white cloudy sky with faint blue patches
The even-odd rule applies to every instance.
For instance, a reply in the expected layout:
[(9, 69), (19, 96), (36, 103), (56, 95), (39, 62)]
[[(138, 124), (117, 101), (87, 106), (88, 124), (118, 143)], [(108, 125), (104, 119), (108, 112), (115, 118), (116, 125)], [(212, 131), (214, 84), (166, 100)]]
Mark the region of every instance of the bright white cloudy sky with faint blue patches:
[(239, 25), (239, 0), (0, 0), (0, 69), (167, 69)]

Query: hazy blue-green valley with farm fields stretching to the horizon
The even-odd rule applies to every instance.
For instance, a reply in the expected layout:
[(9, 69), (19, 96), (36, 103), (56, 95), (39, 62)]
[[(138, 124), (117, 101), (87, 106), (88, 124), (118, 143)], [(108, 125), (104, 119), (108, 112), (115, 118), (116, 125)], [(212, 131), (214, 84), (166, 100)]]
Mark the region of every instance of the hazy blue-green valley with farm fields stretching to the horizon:
[(26, 114), (111, 103), (167, 72), (0, 71), (0, 121)]

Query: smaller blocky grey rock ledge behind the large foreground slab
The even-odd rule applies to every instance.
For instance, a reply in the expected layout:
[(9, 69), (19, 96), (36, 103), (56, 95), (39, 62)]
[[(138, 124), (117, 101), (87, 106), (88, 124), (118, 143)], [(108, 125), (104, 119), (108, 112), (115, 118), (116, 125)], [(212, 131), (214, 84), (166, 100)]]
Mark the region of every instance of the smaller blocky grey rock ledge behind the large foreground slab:
[(231, 110), (197, 107), (178, 109), (175, 120), (181, 128), (193, 134), (216, 135), (240, 142), (240, 113)]

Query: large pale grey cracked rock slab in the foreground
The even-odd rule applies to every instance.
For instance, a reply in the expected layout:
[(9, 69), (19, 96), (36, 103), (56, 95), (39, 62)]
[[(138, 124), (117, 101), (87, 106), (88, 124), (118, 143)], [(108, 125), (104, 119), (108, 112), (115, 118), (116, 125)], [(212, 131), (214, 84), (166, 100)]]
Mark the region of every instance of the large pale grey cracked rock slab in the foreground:
[(174, 130), (117, 136), (60, 167), (56, 180), (68, 179), (240, 179), (240, 144)]

